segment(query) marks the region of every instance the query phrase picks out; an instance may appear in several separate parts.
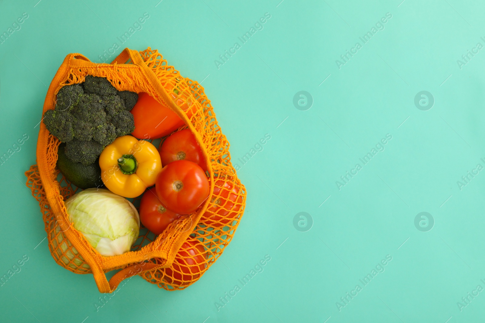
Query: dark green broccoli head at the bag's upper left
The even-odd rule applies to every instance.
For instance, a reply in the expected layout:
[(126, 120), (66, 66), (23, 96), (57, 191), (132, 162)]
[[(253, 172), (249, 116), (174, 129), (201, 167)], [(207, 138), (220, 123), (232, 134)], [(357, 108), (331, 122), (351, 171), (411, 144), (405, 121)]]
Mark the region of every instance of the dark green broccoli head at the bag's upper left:
[(44, 123), (66, 143), (65, 154), (72, 162), (89, 165), (116, 137), (135, 130), (129, 110), (137, 100), (137, 93), (118, 92), (108, 79), (88, 75), (83, 83), (59, 90), (56, 107), (44, 113)]

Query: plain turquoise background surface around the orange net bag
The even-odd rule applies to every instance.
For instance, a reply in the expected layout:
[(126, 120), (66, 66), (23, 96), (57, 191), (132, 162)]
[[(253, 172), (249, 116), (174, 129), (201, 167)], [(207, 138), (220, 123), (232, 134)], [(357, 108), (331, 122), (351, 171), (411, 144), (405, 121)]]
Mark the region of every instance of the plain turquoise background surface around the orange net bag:
[[(457, 184), (485, 166), (485, 49), (457, 62), (485, 45), (483, 1), (37, 1), (0, 0), (1, 33), (29, 15), (0, 44), (0, 154), (29, 137), (0, 166), (0, 276), (29, 258), (0, 287), (1, 322), (483, 322), (485, 292), (462, 297), (485, 288), (484, 171)], [(120, 44), (144, 13), (143, 29)], [(265, 13), (263, 30), (242, 44)], [(384, 30), (363, 44), (386, 13)], [(115, 42), (112, 58), (151, 46), (203, 80), (248, 195), (233, 241), (194, 285), (167, 292), (133, 277), (97, 311), (93, 277), (50, 256), (23, 173), (35, 163), (43, 101), (64, 57), (101, 62)], [(217, 68), (235, 42), (241, 48)], [(339, 68), (356, 42), (362, 48)], [(311, 94), (311, 108), (295, 108), (299, 91)], [(420, 91), (434, 97), (431, 109), (415, 106)], [(240, 164), (265, 134), (263, 151)], [(385, 150), (363, 165), (387, 134)], [(299, 212), (311, 216), (310, 230), (293, 226)], [(420, 212), (433, 216), (432, 230), (417, 229)], [(263, 272), (241, 287), (265, 255)], [(364, 286), (359, 279), (387, 255)], [(241, 291), (218, 310), (236, 284)]]

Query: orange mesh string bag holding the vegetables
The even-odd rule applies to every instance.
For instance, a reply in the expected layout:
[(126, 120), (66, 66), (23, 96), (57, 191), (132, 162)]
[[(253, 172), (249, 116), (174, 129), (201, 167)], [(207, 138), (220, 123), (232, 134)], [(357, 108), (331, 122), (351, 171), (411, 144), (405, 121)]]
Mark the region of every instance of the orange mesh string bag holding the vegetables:
[[(67, 55), (50, 83), (43, 114), (55, 107), (57, 92), (63, 86), (81, 83), (87, 75), (106, 77), (118, 91), (147, 92), (184, 121), (182, 128), (194, 133), (207, 164), (209, 198), (158, 236), (142, 227), (131, 251), (101, 256), (69, 220), (64, 201), (76, 193), (77, 187), (56, 169), (60, 141), (40, 123), (37, 165), (25, 174), (40, 204), (50, 253), (59, 265), (76, 274), (92, 273), (99, 292), (113, 292), (123, 279), (134, 275), (165, 290), (186, 288), (229, 244), (246, 200), (245, 187), (230, 162), (229, 142), (217, 124), (210, 100), (199, 83), (181, 77), (157, 50), (126, 48), (111, 64), (93, 63), (81, 54)], [(166, 90), (175, 86), (180, 89), (176, 97)], [(190, 108), (184, 112), (182, 105)], [(108, 281), (106, 273), (112, 270), (119, 271)]]

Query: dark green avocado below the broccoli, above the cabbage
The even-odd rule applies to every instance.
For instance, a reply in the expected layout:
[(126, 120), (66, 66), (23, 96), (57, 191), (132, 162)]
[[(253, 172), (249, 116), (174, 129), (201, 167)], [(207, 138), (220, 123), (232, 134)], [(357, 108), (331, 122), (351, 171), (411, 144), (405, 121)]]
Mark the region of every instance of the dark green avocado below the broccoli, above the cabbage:
[(99, 157), (96, 162), (87, 166), (81, 163), (74, 163), (67, 158), (64, 148), (65, 143), (61, 143), (57, 153), (57, 168), (71, 184), (82, 189), (103, 186)]

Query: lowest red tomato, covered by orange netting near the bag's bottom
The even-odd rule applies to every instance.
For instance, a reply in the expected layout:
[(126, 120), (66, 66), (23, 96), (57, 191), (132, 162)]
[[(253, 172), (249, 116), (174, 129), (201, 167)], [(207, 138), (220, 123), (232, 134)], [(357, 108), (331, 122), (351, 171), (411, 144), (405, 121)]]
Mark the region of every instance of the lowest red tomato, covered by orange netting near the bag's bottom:
[(204, 245), (196, 239), (189, 239), (178, 250), (172, 267), (162, 269), (165, 272), (163, 279), (169, 284), (188, 285), (191, 280), (200, 277), (200, 273), (207, 267)]

